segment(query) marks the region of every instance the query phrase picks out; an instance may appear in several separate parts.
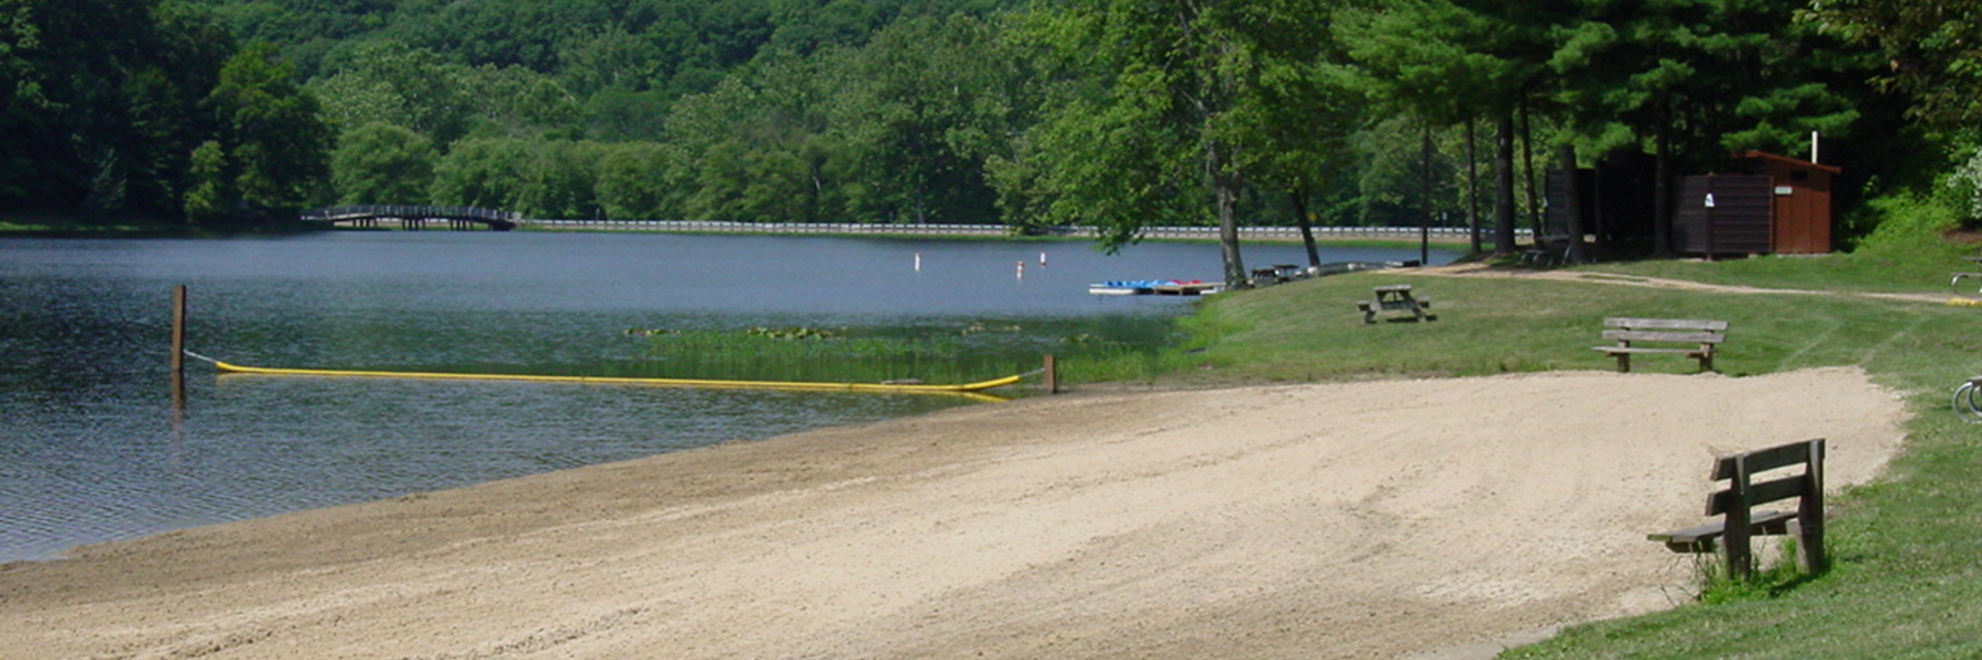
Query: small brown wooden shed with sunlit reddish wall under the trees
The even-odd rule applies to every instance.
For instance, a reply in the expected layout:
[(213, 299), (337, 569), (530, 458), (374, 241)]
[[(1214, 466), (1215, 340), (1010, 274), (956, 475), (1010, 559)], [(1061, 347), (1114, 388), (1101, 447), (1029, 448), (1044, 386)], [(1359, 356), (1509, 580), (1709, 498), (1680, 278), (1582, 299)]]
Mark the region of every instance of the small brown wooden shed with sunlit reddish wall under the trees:
[(1673, 248), (1707, 256), (1831, 252), (1831, 178), (1839, 168), (1764, 151), (1734, 157), (1740, 174), (1681, 180)]

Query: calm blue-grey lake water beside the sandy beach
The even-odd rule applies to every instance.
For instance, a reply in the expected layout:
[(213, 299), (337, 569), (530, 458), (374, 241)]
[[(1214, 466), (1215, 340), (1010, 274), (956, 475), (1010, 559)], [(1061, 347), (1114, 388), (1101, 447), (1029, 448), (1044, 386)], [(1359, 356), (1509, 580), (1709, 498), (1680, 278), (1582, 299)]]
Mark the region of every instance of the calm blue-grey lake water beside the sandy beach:
[[(1298, 246), (1249, 244), (1245, 258), (1306, 264)], [(1326, 250), (1322, 260), (1415, 258), (1417, 250)], [(1433, 252), (1435, 264), (1453, 258)], [(1064, 242), (672, 234), (0, 238), (0, 561), (975, 404), (220, 379), (188, 361), (188, 406), (178, 414), (166, 365), (170, 295), (180, 283), (190, 289), (188, 349), (230, 363), (585, 375), (640, 363), (648, 339), (628, 329), (1161, 327), (1189, 309), (1187, 299), (1088, 295), (1086, 283), (1219, 279), (1219, 270), (1217, 246), (1205, 244), (1102, 256)]]

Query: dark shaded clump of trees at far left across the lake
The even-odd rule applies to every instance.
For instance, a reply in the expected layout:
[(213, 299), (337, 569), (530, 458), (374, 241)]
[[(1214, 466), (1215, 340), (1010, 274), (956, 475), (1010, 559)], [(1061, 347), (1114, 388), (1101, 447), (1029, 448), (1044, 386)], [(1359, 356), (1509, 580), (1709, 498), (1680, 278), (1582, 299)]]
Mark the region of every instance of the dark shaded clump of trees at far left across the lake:
[(228, 222), (293, 208), (333, 133), (270, 46), (135, 0), (0, 2), (0, 204)]

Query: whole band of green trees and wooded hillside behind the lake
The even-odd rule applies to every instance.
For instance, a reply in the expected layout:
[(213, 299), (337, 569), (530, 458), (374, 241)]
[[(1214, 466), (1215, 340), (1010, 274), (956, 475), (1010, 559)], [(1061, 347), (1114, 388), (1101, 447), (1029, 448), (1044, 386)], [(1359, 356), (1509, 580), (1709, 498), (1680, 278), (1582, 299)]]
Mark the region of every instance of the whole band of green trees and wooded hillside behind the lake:
[[(1744, 149), (1972, 216), (1976, 0), (0, 0), (0, 210), (1536, 222)], [(1659, 198), (1667, 198), (1659, 196)]]

